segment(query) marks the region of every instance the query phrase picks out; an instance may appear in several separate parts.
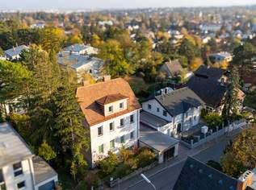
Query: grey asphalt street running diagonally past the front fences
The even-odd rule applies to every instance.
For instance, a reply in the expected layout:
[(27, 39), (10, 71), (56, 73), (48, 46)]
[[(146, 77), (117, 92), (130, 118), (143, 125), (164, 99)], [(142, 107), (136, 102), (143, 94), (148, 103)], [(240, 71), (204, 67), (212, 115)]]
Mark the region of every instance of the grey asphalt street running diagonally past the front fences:
[[(216, 140), (212, 140), (212, 142), (209, 142), (207, 145), (199, 147), (201, 150), (199, 150), (199, 153), (195, 152), (195, 155), (189, 155), (205, 163), (208, 162), (208, 160), (210, 159), (219, 161), (220, 156), (223, 154), (225, 146), (227, 145), (230, 139), (233, 139), (239, 133), (239, 131), (240, 129), (238, 129), (237, 131), (233, 131), (232, 134), (225, 135)], [(180, 146), (183, 147), (183, 145), (181, 144)], [(193, 150), (189, 151), (191, 152)], [(149, 180), (151, 180), (151, 182), (156, 186), (157, 190), (170, 190), (171, 188), (174, 187), (175, 181), (177, 180), (178, 175), (187, 158), (187, 156), (185, 155), (180, 156), (183, 156), (184, 158), (181, 160), (170, 160), (170, 163), (163, 164), (165, 166), (162, 166), (162, 168), (158, 170), (157, 168), (152, 168), (151, 170), (144, 173), (145, 176), (147, 176)], [(132, 179), (124, 181), (124, 183), (121, 183), (119, 187), (116, 186), (113, 189), (149, 190), (153, 189), (153, 187), (151, 187), (150, 184), (147, 184), (144, 180), (142, 180), (141, 176), (135, 176)]]

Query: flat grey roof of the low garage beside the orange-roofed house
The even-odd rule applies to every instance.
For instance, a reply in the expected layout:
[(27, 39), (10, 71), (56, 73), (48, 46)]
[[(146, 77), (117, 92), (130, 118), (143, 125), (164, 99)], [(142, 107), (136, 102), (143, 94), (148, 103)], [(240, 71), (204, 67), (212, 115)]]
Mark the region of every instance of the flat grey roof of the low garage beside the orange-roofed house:
[(177, 139), (172, 138), (167, 134), (163, 134), (157, 130), (150, 130), (149, 127), (144, 126), (143, 124), (140, 127), (141, 136), (139, 140), (156, 151), (166, 151), (178, 143)]

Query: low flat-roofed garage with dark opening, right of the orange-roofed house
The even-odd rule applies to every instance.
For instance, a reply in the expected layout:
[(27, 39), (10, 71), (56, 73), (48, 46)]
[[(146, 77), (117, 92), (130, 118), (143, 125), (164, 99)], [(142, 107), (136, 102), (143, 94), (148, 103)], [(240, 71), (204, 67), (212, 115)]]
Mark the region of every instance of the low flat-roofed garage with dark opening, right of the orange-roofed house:
[(158, 155), (158, 163), (163, 163), (178, 155), (178, 140), (162, 134), (157, 130), (152, 130), (148, 126), (141, 124), (141, 135), (139, 139), (140, 147), (149, 147)]

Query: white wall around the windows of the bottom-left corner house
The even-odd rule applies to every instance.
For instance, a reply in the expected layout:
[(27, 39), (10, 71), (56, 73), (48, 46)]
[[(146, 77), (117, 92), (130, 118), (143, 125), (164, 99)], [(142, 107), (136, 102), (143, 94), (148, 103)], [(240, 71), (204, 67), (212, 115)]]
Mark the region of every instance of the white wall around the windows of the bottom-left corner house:
[(14, 170), (12, 164), (2, 167), (3, 178), (6, 183), (6, 190), (16, 190), (17, 184), (20, 182), (25, 181), (27, 190), (34, 189), (34, 184), (32, 180), (32, 173), (31, 173), (31, 165), (29, 163), (29, 159), (22, 161), (23, 167), (23, 174), (19, 176), (14, 176)]

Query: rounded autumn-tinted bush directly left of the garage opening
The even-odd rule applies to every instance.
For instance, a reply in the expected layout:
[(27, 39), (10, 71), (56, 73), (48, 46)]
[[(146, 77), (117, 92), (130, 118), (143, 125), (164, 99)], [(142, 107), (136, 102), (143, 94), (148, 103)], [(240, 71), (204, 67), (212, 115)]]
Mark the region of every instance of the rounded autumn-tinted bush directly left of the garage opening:
[(149, 149), (144, 149), (136, 156), (138, 167), (146, 167), (156, 159), (156, 155)]

